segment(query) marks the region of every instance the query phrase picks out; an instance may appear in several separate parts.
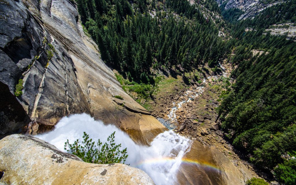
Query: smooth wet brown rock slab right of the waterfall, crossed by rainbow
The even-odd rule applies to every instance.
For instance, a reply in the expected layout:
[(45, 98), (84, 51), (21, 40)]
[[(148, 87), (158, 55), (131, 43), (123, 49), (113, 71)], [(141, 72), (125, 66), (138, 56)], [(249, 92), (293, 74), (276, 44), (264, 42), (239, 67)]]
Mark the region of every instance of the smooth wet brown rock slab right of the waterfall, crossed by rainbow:
[(253, 177), (243, 163), (234, 166), (218, 149), (198, 141), (192, 142), (183, 157), (186, 163), (181, 164), (177, 175), (180, 185), (244, 185)]

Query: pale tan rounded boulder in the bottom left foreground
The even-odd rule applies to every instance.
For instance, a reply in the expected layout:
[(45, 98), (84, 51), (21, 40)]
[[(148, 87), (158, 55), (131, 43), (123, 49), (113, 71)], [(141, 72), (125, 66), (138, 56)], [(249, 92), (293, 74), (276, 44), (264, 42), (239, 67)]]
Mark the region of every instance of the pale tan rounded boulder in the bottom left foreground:
[(154, 184), (138, 168), (91, 164), (41, 139), (19, 134), (0, 140), (0, 184)]

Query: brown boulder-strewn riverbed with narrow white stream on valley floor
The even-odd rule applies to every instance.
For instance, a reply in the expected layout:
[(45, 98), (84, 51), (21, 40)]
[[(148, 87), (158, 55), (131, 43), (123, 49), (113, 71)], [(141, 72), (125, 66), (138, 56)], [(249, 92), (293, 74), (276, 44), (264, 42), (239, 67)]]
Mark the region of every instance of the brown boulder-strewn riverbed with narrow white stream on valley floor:
[(200, 84), (195, 80), (189, 80), (186, 84), (181, 77), (177, 77), (180, 80), (156, 95), (150, 112), (168, 129), (203, 145), (214, 146), (234, 165), (244, 163), (250, 173), (258, 177), (253, 166), (240, 158), (239, 151), (229, 143), (221, 129), (221, 121), (215, 123), (221, 94), (225, 93), (228, 85), (234, 83), (229, 78), (232, 67), (222, 64), (221, 69), (219, 74), (206, 74)]

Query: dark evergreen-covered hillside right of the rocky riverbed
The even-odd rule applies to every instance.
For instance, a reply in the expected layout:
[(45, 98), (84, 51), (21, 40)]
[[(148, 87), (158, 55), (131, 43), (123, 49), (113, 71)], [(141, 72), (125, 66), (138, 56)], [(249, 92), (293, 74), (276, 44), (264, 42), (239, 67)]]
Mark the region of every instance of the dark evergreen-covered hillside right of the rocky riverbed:
[[(261, 168), (274, 169), (285, 184), (296, 182), (296, 43), (295, 38), (263, 34), (272, 24), (295, 24), (296, 1), (266, 8), (254, 19), (235, 22), (230, 34), (237, 38), (238, 67), (233, 90), (219, 106), (222, 127), (233, 145)], [(254, 55), (254, 49), (264, 51)]]

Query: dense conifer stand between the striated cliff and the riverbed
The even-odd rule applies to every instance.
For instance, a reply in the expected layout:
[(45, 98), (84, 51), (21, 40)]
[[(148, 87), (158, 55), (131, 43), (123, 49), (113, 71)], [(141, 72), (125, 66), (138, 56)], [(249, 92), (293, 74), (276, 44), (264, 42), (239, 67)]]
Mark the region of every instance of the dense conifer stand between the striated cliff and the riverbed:
[[(218, 37), (219, 26), (188, 1), (79, 0), (77, 4), (103, 60), (127, 72), (130, 80), (152, 84), (150, 68), (181, 67), (185, 72), (208, 61), (215, 67), (231, 49)], [(218, 10), (214, 5), (205, 6)]]

